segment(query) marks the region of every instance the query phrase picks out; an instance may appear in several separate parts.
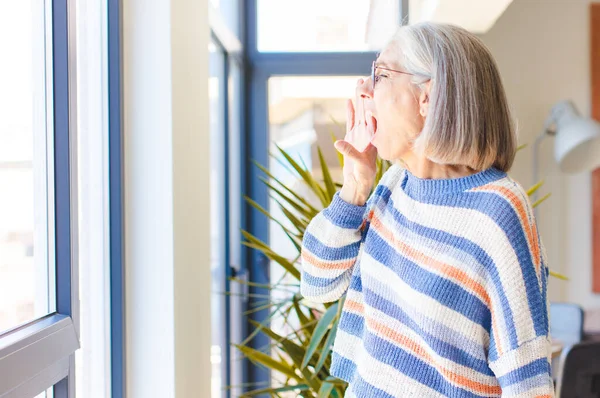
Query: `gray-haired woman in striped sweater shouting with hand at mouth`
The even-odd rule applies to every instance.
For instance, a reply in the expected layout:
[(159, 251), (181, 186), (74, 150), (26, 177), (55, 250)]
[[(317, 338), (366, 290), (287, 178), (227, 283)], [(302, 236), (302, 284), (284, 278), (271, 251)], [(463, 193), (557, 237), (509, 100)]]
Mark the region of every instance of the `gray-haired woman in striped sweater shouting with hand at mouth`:
[[(402, 27), (356, 92), (343, 187), (302, 250), (302, 294), (345, 294), (346, 396), (554, 396), (546, 257), (506, 174), (516, 134), (491, 53), (458, 27)], [(369, 198), (378, 154), (394, 165)]]

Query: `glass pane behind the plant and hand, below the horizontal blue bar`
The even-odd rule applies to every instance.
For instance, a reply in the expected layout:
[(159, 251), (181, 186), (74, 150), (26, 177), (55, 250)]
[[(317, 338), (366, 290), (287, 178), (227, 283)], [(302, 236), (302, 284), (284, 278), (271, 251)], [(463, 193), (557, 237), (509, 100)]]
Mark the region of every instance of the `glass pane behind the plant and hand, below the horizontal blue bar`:
[[(320, 148), (334, 181), (342, 182), (342, 169), (333, 147), (332, 134), (343, 138), (346, 122), (346, 101), (354, 96), (358, 76), (354, 77), (272, 77), (268, 83), (270, 152), (278, 154), (277, 147), (286, 151), (296, 162), (305, 165), (317, 178), (322, 176), (317, 148)], [(270, 159), (270, 172), (277, 180), (308, 200), (316, 209), (322, 208), (308, 186), (293, 172), (285, 158), (277, 155)], [(273, 195), (276, 197), (276, 195)], [(283, 201), (280, 201), (285, 203)], [(295, 213), (291, 206), (287, 210)], [(285, 216), (279, 203), (270, 199), (269, 211), (284, 227), (294, 231), (292, 222)], [(296, 213), (297, 214), (297, 213)], [(278, 222), (269, 222), (269, 246), (288, 259), (298, 259), (294, 244), (283, 233)], [(297, 265), (299, 265), (297, 263)], [(279, 286), (271, 291), (273, 302), (283, 302), (290, 294), (298, 292), (298, 281), (286, 274), (276, 262), (270, 266), (271, 284)], [(291, 336), (299, 327), (297, 318), (275, 316), (271, 328), (282, 336)], [(272, 372), (273, 385), (279, 386), (285, 378)]]

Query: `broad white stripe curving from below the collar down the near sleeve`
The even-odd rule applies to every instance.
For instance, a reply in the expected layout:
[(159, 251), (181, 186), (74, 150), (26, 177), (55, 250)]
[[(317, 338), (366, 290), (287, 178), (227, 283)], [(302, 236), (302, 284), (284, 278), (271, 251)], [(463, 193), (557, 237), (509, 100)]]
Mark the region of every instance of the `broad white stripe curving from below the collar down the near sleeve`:
[(489, 216), (477, 210), (420, 203), (401, 189), (396, 189), (392, 198), (408, 220), (468, 239), (481, 247), (498, 269), (519, 343), (535, 336), (519, 260), (504, 231)]

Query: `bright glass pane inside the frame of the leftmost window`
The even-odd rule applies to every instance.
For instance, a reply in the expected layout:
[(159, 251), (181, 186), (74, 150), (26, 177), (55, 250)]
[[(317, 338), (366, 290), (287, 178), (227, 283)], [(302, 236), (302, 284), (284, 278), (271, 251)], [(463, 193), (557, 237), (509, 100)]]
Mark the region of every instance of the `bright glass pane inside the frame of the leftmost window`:
[(54, 311), (49, 15), (0, 2), (0, 334)]

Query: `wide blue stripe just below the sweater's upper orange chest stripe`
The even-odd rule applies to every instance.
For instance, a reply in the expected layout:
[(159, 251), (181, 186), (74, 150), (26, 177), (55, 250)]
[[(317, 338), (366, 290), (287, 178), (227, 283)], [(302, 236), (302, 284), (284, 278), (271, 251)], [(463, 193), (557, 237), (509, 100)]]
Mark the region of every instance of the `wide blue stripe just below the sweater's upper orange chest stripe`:
[(490, 330), (491, 313), (481, 300), (456, 283), (421, 268), (397, 253), (373, 230), (365, 243), (365, 252), (390, 268), (415, 290), (443, 303), (448, 308)]

